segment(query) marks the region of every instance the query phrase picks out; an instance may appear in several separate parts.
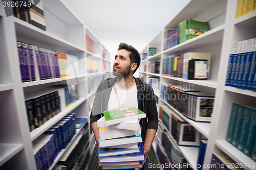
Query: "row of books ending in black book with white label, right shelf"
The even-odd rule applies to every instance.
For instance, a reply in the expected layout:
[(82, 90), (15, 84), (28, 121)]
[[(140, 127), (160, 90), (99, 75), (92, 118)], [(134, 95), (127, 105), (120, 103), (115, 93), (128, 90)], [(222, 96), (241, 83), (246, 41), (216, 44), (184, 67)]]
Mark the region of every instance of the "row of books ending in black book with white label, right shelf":
[(211, 53), (185, 53), (162, 59), (162, 75), (188, 80), (209, 80)]

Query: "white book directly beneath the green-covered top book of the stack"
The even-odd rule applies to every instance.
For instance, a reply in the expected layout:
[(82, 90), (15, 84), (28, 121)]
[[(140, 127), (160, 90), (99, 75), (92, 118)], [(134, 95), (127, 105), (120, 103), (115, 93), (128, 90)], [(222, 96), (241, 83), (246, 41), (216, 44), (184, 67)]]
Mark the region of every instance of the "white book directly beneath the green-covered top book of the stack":
[(139, 127), (139, 119), (128, 120), (119, 124), (114, 124), (106, 126), (105, 117), (101, 117), (97, 120), (98, 128), (116, 128), (116, 129), (126, 129), (131, 131), (137, 131)]

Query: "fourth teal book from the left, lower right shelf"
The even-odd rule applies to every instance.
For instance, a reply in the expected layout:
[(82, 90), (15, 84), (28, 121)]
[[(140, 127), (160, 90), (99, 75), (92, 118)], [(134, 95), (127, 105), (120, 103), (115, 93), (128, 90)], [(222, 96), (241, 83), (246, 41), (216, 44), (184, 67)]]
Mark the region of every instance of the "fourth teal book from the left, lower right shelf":
[(247, 156), (250, 156), (253, 135), (255, 134), (255, 127), (256, 127), (256, 107), (251, 107), (248, 127), (245, 135), (244, 149), (243, 149), (244, 154)]

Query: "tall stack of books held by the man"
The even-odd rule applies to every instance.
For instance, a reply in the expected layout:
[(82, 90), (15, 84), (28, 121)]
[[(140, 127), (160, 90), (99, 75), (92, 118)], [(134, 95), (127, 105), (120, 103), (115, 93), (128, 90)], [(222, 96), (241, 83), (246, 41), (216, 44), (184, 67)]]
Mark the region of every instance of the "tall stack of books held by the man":
[(139, 118), (144, 117), (146, 114), (135, 107), (104, 112), (97, 121), (102, 169), (142, 167), (145, 159)]

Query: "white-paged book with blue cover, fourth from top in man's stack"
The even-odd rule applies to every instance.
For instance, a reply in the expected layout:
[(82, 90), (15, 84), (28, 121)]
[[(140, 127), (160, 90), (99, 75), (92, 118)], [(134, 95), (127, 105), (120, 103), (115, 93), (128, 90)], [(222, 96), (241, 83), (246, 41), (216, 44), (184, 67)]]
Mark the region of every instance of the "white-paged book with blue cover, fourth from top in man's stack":
[(138, 142), (142, 142), (141, 135), (99, 140), (99, 147), (102, 148), (102, 147), (114, 146), (113, 148), (116, 148), (115, 145), (138, 143)]

